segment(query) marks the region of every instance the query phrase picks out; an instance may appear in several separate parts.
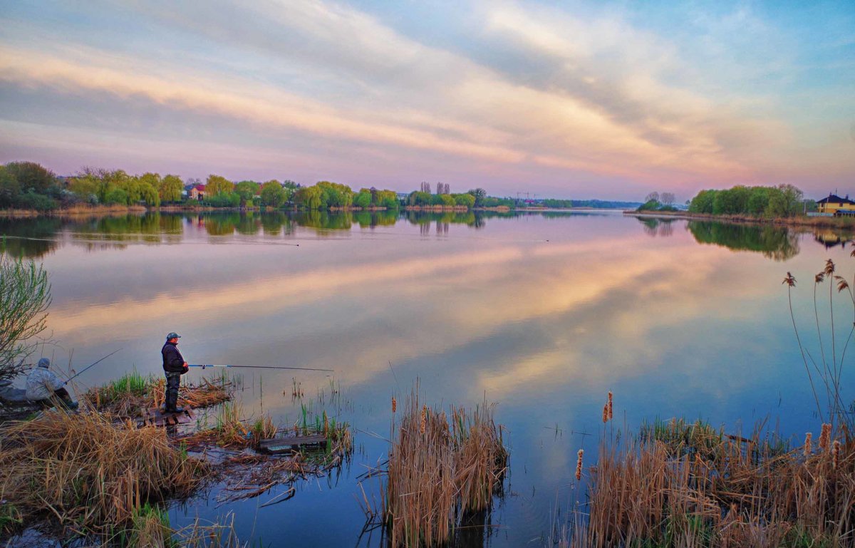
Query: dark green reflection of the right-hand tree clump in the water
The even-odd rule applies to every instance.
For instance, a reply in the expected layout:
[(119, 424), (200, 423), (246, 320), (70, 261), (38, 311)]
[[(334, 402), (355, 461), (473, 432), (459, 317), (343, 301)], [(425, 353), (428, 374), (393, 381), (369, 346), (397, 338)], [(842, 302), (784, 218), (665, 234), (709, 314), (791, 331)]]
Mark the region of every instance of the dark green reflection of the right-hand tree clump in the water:
[(787, 227), (688, 221), (687, 228), (699, 244), (758, 251), (775, 261), (786, 261), (799, 254), (799, 236)]

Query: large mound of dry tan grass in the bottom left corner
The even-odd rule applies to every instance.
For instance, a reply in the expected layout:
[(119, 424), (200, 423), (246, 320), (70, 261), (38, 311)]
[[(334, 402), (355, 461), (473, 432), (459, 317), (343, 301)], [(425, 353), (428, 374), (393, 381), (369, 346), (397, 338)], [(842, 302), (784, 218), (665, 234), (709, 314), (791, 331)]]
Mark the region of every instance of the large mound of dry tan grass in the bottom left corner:
[(109, 533), (146, 502), (188, 494), (207, 472), (164, 430), (97, 413), (49, 412), (0, 435), (0, 499), (25, 522), (53, 515), (76, 533)]

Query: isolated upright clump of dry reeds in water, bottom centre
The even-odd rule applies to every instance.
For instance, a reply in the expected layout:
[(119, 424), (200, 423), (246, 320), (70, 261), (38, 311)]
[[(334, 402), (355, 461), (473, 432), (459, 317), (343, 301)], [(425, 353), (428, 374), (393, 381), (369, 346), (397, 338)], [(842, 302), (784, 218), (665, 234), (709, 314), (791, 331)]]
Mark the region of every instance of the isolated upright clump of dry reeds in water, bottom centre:
[(486, 402), (469, 412), (452, 407), (449, 421), (410, 394), (383, 489), (391, 545), (441, 545), (465, 515), (489, 509), (508, 460), (492, 412)]

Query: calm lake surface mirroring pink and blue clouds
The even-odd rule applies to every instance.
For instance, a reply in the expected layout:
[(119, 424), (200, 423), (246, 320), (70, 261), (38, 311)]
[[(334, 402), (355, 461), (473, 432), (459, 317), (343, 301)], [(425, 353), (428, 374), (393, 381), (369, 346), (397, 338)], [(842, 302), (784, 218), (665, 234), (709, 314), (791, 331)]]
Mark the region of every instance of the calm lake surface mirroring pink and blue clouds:
[[(619, 426), (686, 416), (816, 433), (781, 280), (803, 282), (807, 332), (813, 274), (827, 258), (855, 266), (839, 234), (618, 212), (147, 215), (0, 221), (0, 233), (50, 272), (58, 346), (45, 353), (73, 350), (82, 366), (122, 349), (85, 386), (159, 374), (169, 331), (190, 362), (335, 369), (357, 445), (341, 474), (267, 508), (277, 492), (219, 508), (212, 492), (171, 512), (174, 525), (234, 512), (243, 539), (272, 546), (380, 545), (360, 538), (357, 476), (385, 458), (373, 433), (387, 435), (392, 394), (416, 379), (428, 402), (496, 402), (507, 427), (505, 496), (465, 545), (544, 544), (577, 498), (575, 454), (594, 452), (610, 390)], [(298, 373), (246, 373), (246, 413), (296, 420), (293, 379), (307, 397), (330, 386)]]

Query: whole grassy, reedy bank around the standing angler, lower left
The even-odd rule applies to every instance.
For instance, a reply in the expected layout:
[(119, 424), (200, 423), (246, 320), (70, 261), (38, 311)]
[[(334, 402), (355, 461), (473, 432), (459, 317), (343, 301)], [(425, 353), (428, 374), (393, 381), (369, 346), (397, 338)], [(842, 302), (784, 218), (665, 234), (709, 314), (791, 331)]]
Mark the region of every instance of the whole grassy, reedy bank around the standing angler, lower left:
[[(317, 401), (295, 392), (302, 415), (292, 425), (277, 426), (267, 414), (245, 418), (241, 405), (232, 402), (239, 378), (220, 375), (181, 391), (180, 404), (213, 408), (213, 415), (204, 413), (195, 425), (175, 432), (139, 426), (144, 410), (162, 403), (163, 382), (131, 373), (86, 391), (79, 413), (47, 410), (0, 421), (0, 541), (39, 531), (87, 545), (165, 548), (174, 545), (170, 539), (198, 536), (191, 534), (198, 527), (169, 527), (167, 510), (174, 501), (208, 486), (216, 487), (219, 502), (274, 491), (280, 491), (274, 499), (290, 498), (294, 482), (334, 472), (353, 451), (351, 427), (336, 418), (341, 400), (335, 388), (330, 394), (321, 389)], [(325, 404), (334, 409), (327, 412)], [(287, 444), (292, 437), (318, 434), (325, 446), (286, 455), (268, 454), (261, 445), (262, 439)], [(154, 517), (159, 527), (140, 527), (141, 520), (150, 526)], [(227, 533), (228, 545), (240, 545), (230, 527), (216, 528)], [(202, 545), (222, 542), (212, 540)]]

